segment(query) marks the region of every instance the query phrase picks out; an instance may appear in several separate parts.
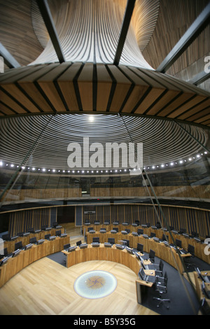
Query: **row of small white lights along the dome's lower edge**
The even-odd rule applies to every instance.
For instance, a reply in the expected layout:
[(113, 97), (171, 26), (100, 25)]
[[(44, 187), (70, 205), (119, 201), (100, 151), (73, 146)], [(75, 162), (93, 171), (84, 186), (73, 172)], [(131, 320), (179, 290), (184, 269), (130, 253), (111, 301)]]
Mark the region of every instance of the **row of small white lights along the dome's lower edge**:
[[(207, 152), (204, 152), (204, 153), (201, 153), (201, 154), (197, 154), (195, 157), (192, 157), (192, 158), (188, 158), (188, 161), (193, 161), (193, 160), (197, 160), (197, 159), (199, 159), (202, 155), (207, 155)], [(170, 162), (169, 164), (166, 164), (166, 165), (164, 165), (164, 164), (162, 164), (162, 165), (157, 165), (157, 166), (151, 166), (151, 167), (144, 167), (144, 170), (145, 169), (158, 169), (158, 168), (165, 168), (165, 167), (174, 167), (174, 165), (183, 165), (183, 164), (186, 164), (186, 162), (188, 162), (187, 160), (180, 160), (179, 162)], [(2, 167), (3, 166), (3, 162), (2, 161), (0, 161), (0, 166)], [(6, 167), (8, 167), (8, 164), (6, 164)], [(10, 165), (10, 167), (15, 167), (15, 165), (13, 165), (13, 164), (11, 164)], [(19, 166), (17, 166), (17, 168), (19, 168)], [(24, 170), (24, 169), (26, 169), (26, 167), (25, 166), (22, 166), (21, 167), (21, 169), (22, 170)], [(30, 167), (27, 167), (27, 169), (31, 169), (33, 172), (36, 170), (36, 168), (35, 167), (32, 167), (32, 168), (30, 168)], [(56, 170), (56, 169), (45, 169), (45, 168), (43, 168), (43, 169), (40, 169), (40, 168), (38, 168), (38, 171), (42, 171), (42, 172), (51, 172), (51, 170), (52, 170), (52, 172), (62, 172), (62, 173), (72, 173), (72, 174), (76, 174), (76, 173), (78, 173), (78, 174), (80, 174), (80, 173), (82, 173), (82, 174), (95, 174), (95, 173), (99, 173), (99, 172), (101, 172), (101, 173), (117, 173), (117, 172), (130, 172), (132, 169), (116, 169), (116, 170), (106, 170), (106, 171), (103, 171), (103, 170), (101, 170), (101, 171), (99, 171), (99, 170), (96, 170), (96, 171), (94, 171), (94, 170), (87, 170), (86, 172), (85, 172), (85, 170)], [(136, 169), (133, 169), (134, 171), (136, 170)]]

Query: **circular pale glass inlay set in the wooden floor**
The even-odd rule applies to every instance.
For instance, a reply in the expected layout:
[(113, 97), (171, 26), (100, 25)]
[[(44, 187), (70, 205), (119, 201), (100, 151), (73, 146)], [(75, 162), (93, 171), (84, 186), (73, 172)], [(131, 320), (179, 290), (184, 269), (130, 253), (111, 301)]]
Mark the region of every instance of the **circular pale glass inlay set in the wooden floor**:
[(74, 282), (73, 288), (81, 297), (102, 298), (116, 289), (117, 279), (106, 271), (90, 271), (80, 275)]

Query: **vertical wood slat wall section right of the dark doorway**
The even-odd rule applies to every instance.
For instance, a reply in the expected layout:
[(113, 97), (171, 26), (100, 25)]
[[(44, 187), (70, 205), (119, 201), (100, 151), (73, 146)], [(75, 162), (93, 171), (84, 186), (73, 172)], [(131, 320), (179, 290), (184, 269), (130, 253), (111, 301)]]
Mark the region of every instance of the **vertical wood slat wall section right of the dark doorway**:
[[(84, 214), (84, 221), (104, 223), (104, 221), (109, 220), (110, 223), (119, 221), (121, 224), (125, 222), (132, 224), (139, 221), (140, 224), (151, 223), (151, 225), (155, 225), (158, 216), (162, 221), (162, 215), (158, 207), (156, 207), (156, 211), (158, 215), (153, 206), (146, 204), (96, 206), (95, 214)], [(167, 225), (173, 226), (174, 230), (186, 228), (188, 233), (198, 232), (201, 237), (210, 235), (210, 211), (169, 206), (163, 206), (162, 211)]]

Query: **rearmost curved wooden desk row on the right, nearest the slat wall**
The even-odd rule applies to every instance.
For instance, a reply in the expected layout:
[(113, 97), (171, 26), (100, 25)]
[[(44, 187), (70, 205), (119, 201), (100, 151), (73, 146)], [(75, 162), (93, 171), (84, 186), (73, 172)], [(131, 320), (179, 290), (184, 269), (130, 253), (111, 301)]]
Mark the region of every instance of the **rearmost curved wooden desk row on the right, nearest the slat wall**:
[[(203, 244), (202, 242), (196, 241), (193, 238), (190, 237), (185, 237), (184, 235), (181, 234), (175, 234), (172, 232), (172, 237), (174, 238), (174, 241), (171, 237), (171, 235), (169, 234), (169, 232), (165, 232), (162, 229), (153, 229), (153, 228), (143, 228), (141, 225), (140, 226), (132, 226), (132, 225), (123, 225), (120, 224), (118, 226), (116, 225), (89, 225), (89, 226), (84, 226), (84, 230), (85, 232), (87, 232), (88, 234), (88, 228), (92, 227), (93, 230), (95, 230), (96, 232), (99, 232), (99, 230), (101, 228), (105, 228), (106, 232), (110, 232), (110, 230), (108, 230), (108, 228), (111, 228), (111, 230), (113, 230), (113, 228), (118, 227), (119, 232), (121, 232), (122, 230), (125, 229), (129, 229), (130, 232), (137, 232), (138, 229), (140, 228), (141, 230), (144, 230), (144, 234), (148, 235), (150, 237), (151, 233), (155, 233), (155, 237), (158, 237), (158, 239), (162, 239), (162, 235), (167, 235), (168, 237), (168, 241), (169, 244), (173, 244), (174, 241), (176, 241), (176, 239), (181, 240), (181, 246), (183, 249), (185, 249), (186, 251), (188, 250), (188, 245), (192, 245), (195, 247), (195, 256), (197, 258), (200, 258), (202, 260), (204, 260), (204, 262), (207, 262), (208, 264), (210, 264), (210, 255), (208, 255), (207, 253), (205, 253), (205, 248), (207, 246), (207, 244)], [(129, 233), (128, 235), (125, 235), (123, 237), (123, 239), (131, 239), (130, 236), (132, 235), (132, 233)], [(113, 235), (113, 237), (116, 237), (116, 235)], [(107, 241), (107, 240), (106, 240)], [(133, 248), (136, 248), (136, 246), (133, 246)]]

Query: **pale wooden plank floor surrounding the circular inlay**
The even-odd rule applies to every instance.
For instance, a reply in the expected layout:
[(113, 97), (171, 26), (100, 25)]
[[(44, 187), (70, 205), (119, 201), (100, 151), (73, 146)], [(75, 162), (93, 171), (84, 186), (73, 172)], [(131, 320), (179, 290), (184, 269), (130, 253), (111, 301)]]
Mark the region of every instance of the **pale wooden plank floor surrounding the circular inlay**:
[[(71, 236), (71, 245), (83, 241), (80, 229), (63, 226)], [(89, 300), (74, 291), (73, 283), (78, 276), (94, 269), (111, 272), (118, 286), (107, 297)], [(135, 279), (131, 269), (116, 262), (93, 260), (66, 268), (45, 257), (22, 269), (0, 289), (0, 314), (155, 315), (137, 303)]]

